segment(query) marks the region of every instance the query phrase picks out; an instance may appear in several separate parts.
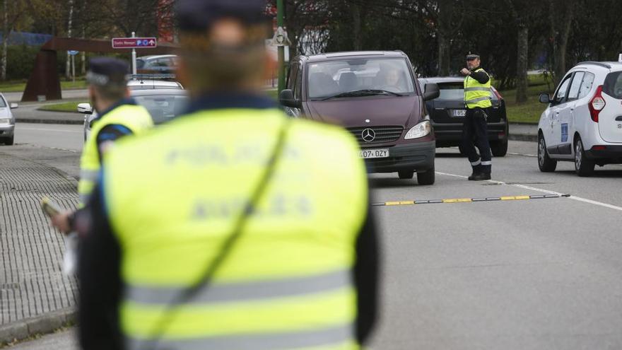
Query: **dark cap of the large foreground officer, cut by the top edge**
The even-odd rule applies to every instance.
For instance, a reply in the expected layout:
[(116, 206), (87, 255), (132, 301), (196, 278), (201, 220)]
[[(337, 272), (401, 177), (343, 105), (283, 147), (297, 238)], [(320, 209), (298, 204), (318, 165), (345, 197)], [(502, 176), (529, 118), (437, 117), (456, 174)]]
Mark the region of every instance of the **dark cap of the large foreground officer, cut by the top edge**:
[(178, 0), (181, 30), (202, 31), (221, 18), (237, 18), (249, 25), (266, 21), (266, 0)]

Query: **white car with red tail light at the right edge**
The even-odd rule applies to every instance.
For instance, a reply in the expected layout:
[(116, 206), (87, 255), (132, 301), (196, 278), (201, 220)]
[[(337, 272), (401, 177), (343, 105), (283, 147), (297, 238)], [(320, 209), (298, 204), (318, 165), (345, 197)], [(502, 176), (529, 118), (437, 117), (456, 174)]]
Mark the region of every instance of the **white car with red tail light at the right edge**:
[(622, 62), (582, 62), (563, 77), (538, 126), (538, 165), (574, 161), (579, 176), (622, 163)]

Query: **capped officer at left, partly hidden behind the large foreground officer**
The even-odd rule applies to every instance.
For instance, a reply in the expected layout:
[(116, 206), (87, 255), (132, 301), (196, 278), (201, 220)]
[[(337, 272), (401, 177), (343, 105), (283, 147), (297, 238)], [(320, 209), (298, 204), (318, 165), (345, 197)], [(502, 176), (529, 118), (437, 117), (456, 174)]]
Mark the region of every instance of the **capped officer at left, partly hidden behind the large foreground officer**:
[[(120, 137), (141, 134), (153, 126), (149, 112), (129, 98), (128, 72), (128, 64), (119, 59), (99, 57), (89, 62), (88, 95), (98, 117), (93, 120), (80, 159), (79, 207), (84, 206), (95, 187), (103, 151)], [(69, 233), (74, 217), (74, 213), (59, 214), (52, 218), (52, 224)]]

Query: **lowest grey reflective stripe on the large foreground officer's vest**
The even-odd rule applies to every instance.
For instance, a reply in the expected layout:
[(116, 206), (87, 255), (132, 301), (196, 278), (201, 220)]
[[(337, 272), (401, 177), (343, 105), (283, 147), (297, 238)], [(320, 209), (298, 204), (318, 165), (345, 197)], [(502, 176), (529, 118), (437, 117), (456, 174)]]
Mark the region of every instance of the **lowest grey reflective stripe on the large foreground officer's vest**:
[[(283, 332), (269, 334), (235, 334), (222, 337), (199, 339), (175, 339), (158, 342), (158, 349), (175, 350), (279, 350), (307, 349), (315, 346), (329, 346), (321, 349), (356, 349), (351, 340), (354, 325), (345, 324), (313, 331)], [(149, 342), (129, 339), (129, 350), (153, 349)]]

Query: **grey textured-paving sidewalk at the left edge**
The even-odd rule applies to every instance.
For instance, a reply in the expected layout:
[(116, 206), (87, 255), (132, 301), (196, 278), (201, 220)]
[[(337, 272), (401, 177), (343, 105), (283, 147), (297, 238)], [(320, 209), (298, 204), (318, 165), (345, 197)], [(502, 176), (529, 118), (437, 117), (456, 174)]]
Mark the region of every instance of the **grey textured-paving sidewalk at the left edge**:
[(47, 195), (74, 208), (76, 180), (45, 165), (58, 151), (37, 152), (33, 156), (32, 146), (0, 150), (0, 346), (51, 332), (75, 317), (76, 279), (61, 272), (64, 240), (39, 203)]

